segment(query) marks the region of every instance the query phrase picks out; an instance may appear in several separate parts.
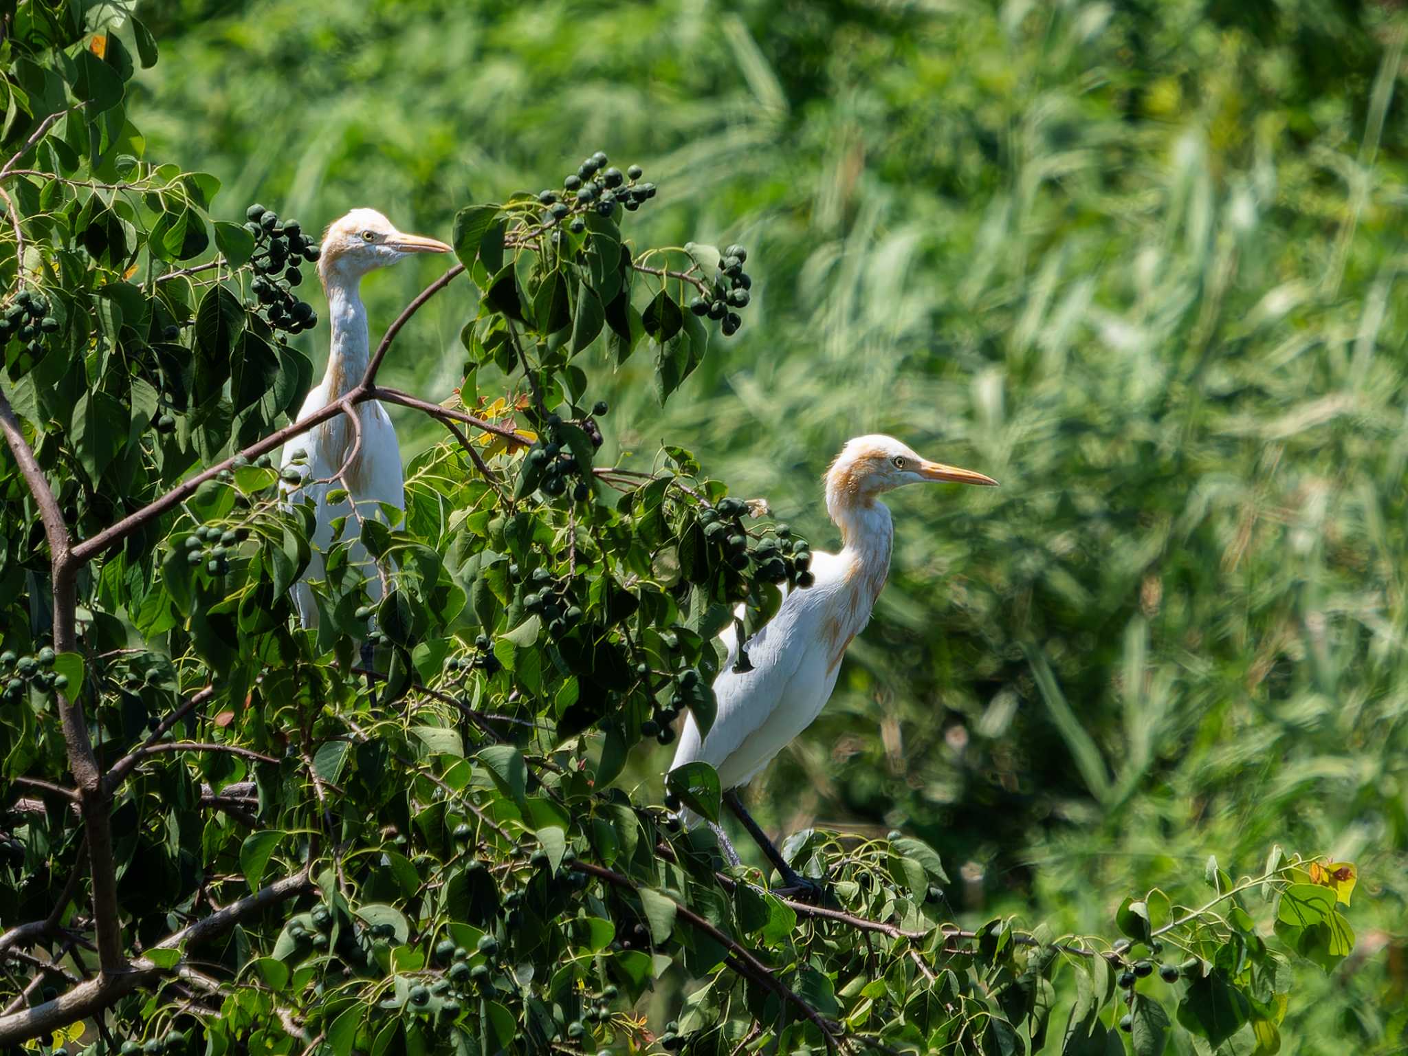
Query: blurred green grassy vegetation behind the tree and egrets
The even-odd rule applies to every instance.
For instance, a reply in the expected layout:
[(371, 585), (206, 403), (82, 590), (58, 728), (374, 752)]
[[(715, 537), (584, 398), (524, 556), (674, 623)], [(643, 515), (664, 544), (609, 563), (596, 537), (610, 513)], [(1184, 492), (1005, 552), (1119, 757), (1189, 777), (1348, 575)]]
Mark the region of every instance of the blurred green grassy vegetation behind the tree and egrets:
[[(1195, 888), (1209, 849), (1243, 873), (1273, 842), (1331, 850), (1360, 865), (1360, 945), (1332, 979), (1298, 969), (1283, 1050), (1402, 1049), (1398, 4), (142, 15), (162, 61), (134, 120), (152, 156), (222, 180), (225, 218), (260, 200), (313, 230), (373, 206), (444, 238), (456, 208), (558, 186), (600, 148), (660, 186), (642, 242), (746, 244), (756, 307), (670, 407), (639, 356), (601, 390), (627, 459), (691, 444), (818, 546), (818, 479), (850, 435), (1001, 480), (895, 496), (874, 622), (750, 790), (774, 831), (914, 831), (964, 877), (962, 919), (1073, 931), (1108, 931), (1140, 883)], [(439, 266), (370, 280), (373, 328)], [(458, 383), (472, 296), (421, 313), (393, 384)], [(325, 329), (300, 341), (321, 362)]]

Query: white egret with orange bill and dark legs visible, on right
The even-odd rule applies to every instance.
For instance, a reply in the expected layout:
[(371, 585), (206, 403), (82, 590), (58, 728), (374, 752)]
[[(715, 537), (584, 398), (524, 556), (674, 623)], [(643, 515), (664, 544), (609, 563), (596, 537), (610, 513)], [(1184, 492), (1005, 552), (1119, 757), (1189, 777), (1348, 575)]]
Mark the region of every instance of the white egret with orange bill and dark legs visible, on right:
[[(788, 888), (815, 886), (787, 865), (743, 810), (735, 790), (753, 780), (821, 714), (836, 684), (841, 658), (869, 622), (890, 573), (894, 527), (880, 496), (921, 482), (997, 484), (983, 473), (928, 462), (893, 436), (856, 436), (841, 449), (825, 477), (826, 513), (841, 529), (841, 552), (814, 553), (815, 583), (805, 590), (790, 590), (777, 615), (743, 643), (750, 670), (749, 665), (735, 667), (736, 624), (719, 635), (728, 660), (714, 680), (718, 701), (714, 725), (700, 738), (691, 712), (680, 734), (670, 769), (703, 759), (718, 772), (724, 801)], [(731, 846), (727, 850), (732, 853)]]

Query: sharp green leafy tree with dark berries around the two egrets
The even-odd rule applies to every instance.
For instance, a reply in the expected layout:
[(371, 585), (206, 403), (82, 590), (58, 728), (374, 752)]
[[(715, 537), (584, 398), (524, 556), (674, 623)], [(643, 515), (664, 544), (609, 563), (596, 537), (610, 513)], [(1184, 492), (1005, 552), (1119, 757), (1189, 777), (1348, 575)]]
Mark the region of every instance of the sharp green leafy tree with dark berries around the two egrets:
[[(411, 460), (404, 517), (362, 528), (390, 584), (375, 624), (341, 548), (324, 620), (296, 628), (313, 511), (282, 508), (260, 459), (311, 427), (286, 422), (313, 366), (255, 293), (255, 234), (211, 214), (213, 176), (144, 159), (124, 84), (156, 46), (121, 4), (23, 3), (3, 46), (0, 1043), (93, 1017), (96, 1052), (210, 1056), (1105, 1053), (1121, 1028), (1136, 1053), (1174, 1031), (1271, 1053), (1286, 957), (1349, 955), (1346, 863), (1273, 849), (1233, 880), (1214, 859), (1205, 895), (1126, 898), (1114, 941), (962, 929), (914, 836), (796, 834), (790, 860), (832, 881), (810, 905), (612, 787), (652, 727), (707, 725), (734, 605), (752, 632), (805, 576), (804, 542), (683, 446), (597, 465), (591, 353), (648, 358), (663, 403), (714, 355), (689, 301), (732, 298), (738, 256), (641, 249), (621, 207), (459, 211), (460, 265), (425, 297), (480, 291), (462, 384), (377, 382), (422, 297), (348, 397), (452, 438)], [(376, 672), (353, 660), (369, 631)], [(672, 788), (717, 817), (707, 767)], [(666, 973), (698, 984), (660, 1029), (634, 1008)]]

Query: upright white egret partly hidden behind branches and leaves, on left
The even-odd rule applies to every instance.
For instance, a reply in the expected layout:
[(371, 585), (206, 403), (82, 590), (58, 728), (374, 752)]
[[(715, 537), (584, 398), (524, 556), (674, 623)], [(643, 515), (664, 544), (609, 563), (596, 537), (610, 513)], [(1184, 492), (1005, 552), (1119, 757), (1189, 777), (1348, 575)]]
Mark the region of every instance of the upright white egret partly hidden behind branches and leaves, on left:
[[(448, 252), (451, 248), (434, 238), (397, 231), (375, 208), (355, 208), (328, 227), (318, 256), (318, 279), (328, 297), (332, 345), (328, 351), (328, 370), (322, 383), (303, 401), (300, 420), (346, 396), (366, 373), (370, 337), (359, 290), (362, 276), (394, 265), (410, 253)], [(401, 448), (391, 420), (379, 401), (358, 404), (356, 414), (360, 445), (356, 442), (358, 429), (345, 414), (329, 418), (284, 445), (283, 469), (293, 467), (301, 479), (301, 483), (286, 483), (284, 490), (294, 498), (310, 497), (317, 504), (313, 559), (304, 579), (322, 577), (324, 555), (332, 545), (332, 521), (345, 517), (342, 538), (353, 541), (351, 560), (366, 572), (367, 591), (375, 601), (382, 597), (382, 582), (356, 539), (360, 535), (360, 518), (380, 517), (379, 503), (406, 508)], [(289, 476), (291, 474), (284, 474), (286, 482)], [(328, 493), (338, 489), (345, 490), (348, 497), (339, 503), (327, 501)], [(297, 583), (293, 597), (303, 625), (317, 627), (318, 608), (308, 584)]]

